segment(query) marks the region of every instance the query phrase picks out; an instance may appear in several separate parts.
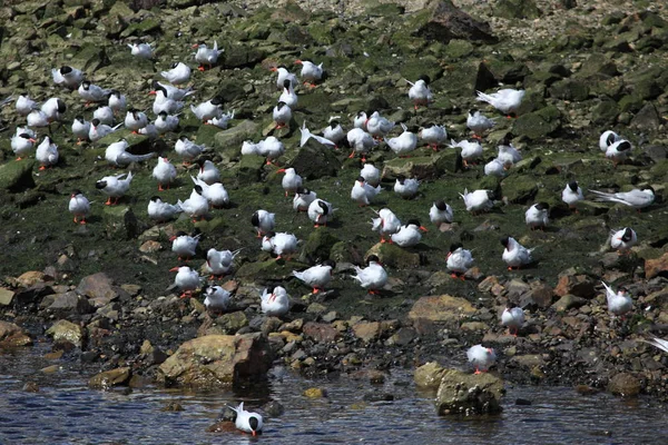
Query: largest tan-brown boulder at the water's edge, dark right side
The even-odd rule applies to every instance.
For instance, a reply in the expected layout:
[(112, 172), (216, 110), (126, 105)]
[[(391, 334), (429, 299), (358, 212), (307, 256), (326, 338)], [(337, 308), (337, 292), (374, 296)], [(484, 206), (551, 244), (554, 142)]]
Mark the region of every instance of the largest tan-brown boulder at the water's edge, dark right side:
[(272, 359), (269, 343), (259, 333), (207, 335), (180, 345), (160, 365), (156, 378), (167, 386), (232, 385), (264, 378)]

